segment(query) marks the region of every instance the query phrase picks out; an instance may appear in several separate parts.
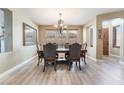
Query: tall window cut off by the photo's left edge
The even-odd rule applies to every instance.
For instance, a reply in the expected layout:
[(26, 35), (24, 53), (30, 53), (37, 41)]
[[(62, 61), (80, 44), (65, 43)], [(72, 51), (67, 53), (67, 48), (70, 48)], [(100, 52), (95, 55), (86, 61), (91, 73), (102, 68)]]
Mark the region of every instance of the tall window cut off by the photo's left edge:
[(0, 53), (12, 51), (12, 12), (0, 9)]

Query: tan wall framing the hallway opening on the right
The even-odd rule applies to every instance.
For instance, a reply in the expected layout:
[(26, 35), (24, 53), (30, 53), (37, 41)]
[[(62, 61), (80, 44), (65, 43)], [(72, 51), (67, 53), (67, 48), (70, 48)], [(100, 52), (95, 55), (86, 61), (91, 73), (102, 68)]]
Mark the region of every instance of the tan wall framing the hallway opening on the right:
[[(98, 30), (102, 29), (103, 20), (111, 20), (115, 18), (122, 18), (124, 20), (124, 11), (117, 11), (117, 12), (98, 15), (96, 17), (97, 35), (98, 35)], [(124, 25), (122, 26), (122, 28), (124, 29)], [(97, 59), (102, 59), (102, 55), (103, 55), (102, 49), (103, 49), (103, 40), (97, 39)], [(124, 31), (122, 31), (122, 36), (121, 36), (120, 56), (121, 56), (121, 59), (124, 59)]]

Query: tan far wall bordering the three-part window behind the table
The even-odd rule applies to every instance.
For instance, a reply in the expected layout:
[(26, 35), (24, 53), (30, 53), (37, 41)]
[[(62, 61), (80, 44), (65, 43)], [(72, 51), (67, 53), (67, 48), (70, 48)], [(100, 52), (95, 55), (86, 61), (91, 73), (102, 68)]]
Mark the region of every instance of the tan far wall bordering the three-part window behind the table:
[[(39, 38), (40, 38), (40, 43), (43, 45), (45, 44), (45, 31), (48, 29), (54, 29), (52, 25), (40, 25), (39, 26)], [(78, 42), (82, 44), (83, 38), (82, 38), (82, 32), (83, 32), (83, 27), (82, 26), (68, 26), (68, 29), (77, 29), (78, 30)]]

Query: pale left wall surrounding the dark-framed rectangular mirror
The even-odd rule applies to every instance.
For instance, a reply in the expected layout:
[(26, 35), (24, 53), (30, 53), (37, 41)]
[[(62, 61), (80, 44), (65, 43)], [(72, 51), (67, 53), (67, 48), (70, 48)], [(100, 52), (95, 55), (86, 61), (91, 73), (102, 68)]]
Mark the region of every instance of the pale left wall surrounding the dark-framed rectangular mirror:
[(37, 29), (21, 9), (10, 9), (13, 12), (13, 51), (0, 53), (0, 73), (28, 60), (36, 55), (36, 46), (23, 46), (22, 23), (25, 22)]

